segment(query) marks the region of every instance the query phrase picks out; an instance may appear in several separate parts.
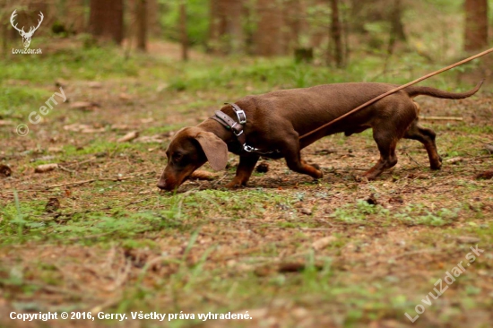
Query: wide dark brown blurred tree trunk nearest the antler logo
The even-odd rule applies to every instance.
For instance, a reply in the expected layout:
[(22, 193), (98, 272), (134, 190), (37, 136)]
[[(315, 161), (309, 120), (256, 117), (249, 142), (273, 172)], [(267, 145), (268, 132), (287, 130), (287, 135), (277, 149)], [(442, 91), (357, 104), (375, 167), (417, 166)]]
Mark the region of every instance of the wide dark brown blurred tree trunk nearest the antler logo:
[(118, 45), (124, 37), (123, 0), (91, 0), (89, 30), (99, 39), (111, 39)]

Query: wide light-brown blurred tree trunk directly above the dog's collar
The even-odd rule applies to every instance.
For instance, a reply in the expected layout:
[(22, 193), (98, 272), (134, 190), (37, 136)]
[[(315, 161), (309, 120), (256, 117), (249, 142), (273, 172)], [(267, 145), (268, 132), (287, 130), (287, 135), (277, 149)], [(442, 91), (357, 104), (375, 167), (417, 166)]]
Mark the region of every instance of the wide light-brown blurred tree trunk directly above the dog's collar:
[(228, 54), (243, 50), (243, 0), (210, 0), (209, 48)]

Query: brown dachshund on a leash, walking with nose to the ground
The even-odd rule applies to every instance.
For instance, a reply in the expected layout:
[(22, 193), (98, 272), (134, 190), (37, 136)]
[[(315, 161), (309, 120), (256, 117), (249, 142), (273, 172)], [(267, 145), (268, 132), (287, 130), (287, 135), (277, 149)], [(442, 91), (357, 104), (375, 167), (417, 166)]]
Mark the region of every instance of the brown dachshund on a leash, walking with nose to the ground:
[[(341, 117), (369, 99), (394, 89), (396, 85), (336, 83), (247, 96), (235, 104), (222, 107), (222, 113), (216, 112), (216, 117), (208, 118), (197, 126), (185, 127), (175, 134), (166, 151), (168, 165), (160, 177), (158, 187), (174, 190), (207, 160), (213, 169), (226, 168), (228, 151), (239, 155), (236, 177), (228, 187), (246, 186), (261, 156), (284, 158), (291, 170), (321, 178), (323, 173), (320, 168), (301, 160), (299, 151), (325, 135), (357, 134), (370, 127), (373, 128), (380, 159), (363, 177), (374, 179), (385, 169), (394, 167), (397, 163), (395, 147), (402, 138), (421, 142), (428, 151), (430, 167), (438, 169), (442, 160), (435, 144), (436, 134), (419, 126), (419, 105), (412, 98), (426, 95), (463, 99), (480, 90), (481, 83), (463, 93), (411, 86), (301, 140), (300, 135)], [(235, 122), (246, 118), (246, 123), (235, 126), (232, 118)]]

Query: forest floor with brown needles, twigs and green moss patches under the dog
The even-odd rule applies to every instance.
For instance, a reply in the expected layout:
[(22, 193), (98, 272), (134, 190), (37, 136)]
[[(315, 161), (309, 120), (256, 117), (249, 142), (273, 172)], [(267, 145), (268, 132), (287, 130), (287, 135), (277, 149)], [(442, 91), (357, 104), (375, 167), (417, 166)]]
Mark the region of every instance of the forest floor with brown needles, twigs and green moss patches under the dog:
[[(171, 194), (156, 183), (172, 134), (225, 101), (377, 75), (404, 82), (431, 70), (382, 75), (371, 58), (345, 71), (202, 54), (183, 64), (175, 47), (153, 49), (125, 58), (66, 44), (0, 63), (0, 326), (490, 327), (493, 184), (480, 174), (492, 169), (491, 89), (417, 99), (424, 116), (463, 117), (422, 122), (437, 132), (438, 171), (419, 142), (402, 141), (396, 167), (358, 182), (378, 158), (367, 131), (303, 151), (324, 170), (317, 182), (282, 160), (262, 160), (268, 172), (227, 190), (238, 164), (231, 154), (226, 171), (204, 167), (212, 181), (188, 181)], [(471, 88), (448, 74), (423, 84)], [(30, 112), (60, 87), (68, 101), (31, 124)], [(19, 124), (29, 134), (16, 134)], [(131, 132), (139, 137), (118, 141)], [(42, 164), (57, 167), (35, 173)], [(471, 246), (484, 251), (473, 262)], [(446, 272), (459, 263), (464, 272), (448, 286)], [(427, 297), (440, 279), (444, 295)], [(424, 313), (411, 324), (405, 313), (415, 317), (416, 308)], [(48, 311), (127, 319), (9, 318)], [(229, 311), (253, 319), (197, 316)], [(131, 317), (151, 312), (177, 319)]]

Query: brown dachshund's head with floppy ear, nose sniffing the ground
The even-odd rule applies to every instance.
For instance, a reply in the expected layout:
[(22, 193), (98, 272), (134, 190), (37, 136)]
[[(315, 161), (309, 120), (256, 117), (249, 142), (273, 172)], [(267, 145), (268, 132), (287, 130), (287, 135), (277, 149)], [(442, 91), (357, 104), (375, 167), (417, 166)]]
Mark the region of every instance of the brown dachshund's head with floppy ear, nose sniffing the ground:
[(187, 177), (209, 161), (215, 170), (226, 168), (228, 163), (228, 146), (216, 134), (192, 126), (177, 132), (166, 151), (168, 165), (158, 182), (164, 190), (174, 190)]

